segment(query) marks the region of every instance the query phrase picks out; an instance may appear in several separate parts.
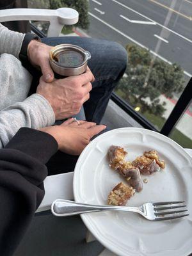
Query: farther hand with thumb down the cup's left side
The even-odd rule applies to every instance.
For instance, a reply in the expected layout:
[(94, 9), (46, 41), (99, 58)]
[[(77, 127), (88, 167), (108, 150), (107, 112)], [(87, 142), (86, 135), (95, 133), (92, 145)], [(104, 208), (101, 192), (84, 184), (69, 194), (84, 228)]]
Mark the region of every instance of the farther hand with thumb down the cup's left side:
[(42, 44), (36, 40), (31, 40), (28, 45), (28, 58), (32, 65), (38, 66), (42, 70), (44, 81), (51, 83), (54, 79), (54, 73), (49, 64), (49, 52), (51, 46)]

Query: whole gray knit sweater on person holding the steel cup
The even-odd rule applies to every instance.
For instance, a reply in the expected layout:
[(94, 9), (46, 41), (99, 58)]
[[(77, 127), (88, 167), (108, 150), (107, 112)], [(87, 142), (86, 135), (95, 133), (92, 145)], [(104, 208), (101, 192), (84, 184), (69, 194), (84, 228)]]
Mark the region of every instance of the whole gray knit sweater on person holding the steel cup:
[(27, 98), (32, 77), (18, 60), (23, 38), (0, 24), (0, 148), (20, 127), (38, 129), (55, 122), (44, 97), (35, 93)]

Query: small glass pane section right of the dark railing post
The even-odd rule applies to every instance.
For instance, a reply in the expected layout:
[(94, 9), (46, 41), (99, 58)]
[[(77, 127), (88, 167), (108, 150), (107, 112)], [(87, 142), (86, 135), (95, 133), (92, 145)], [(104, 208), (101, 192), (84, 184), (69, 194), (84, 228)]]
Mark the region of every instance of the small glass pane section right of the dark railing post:
[(192, 148), (192, 104), (180, 118), (179, 123), (170, 134), (170, 138), (184, 148)]

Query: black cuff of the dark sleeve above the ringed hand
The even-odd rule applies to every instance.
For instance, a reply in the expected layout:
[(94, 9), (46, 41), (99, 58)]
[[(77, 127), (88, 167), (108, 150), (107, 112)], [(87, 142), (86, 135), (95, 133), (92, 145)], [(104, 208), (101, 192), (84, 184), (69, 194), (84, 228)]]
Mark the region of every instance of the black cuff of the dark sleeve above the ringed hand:
[(58, 143), (46, 132), (24, 127), (19, 129), (4, 148), (19, 150), (45, 164), (57, 152)]

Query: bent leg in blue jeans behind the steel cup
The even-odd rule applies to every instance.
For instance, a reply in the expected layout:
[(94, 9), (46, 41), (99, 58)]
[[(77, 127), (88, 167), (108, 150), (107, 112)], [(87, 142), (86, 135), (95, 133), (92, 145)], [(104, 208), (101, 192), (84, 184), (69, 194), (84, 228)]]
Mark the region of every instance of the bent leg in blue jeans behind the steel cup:
[(116, 42), (78, 36), (43, 38), (48, 45), (74, 44), (90, 51), (88, 66), (95, 76), (90, 99), (84, 103), (86, 120), (100, 123), (111, 97), (111, 92), (123, 76), (127, 65), (127, 52)]

